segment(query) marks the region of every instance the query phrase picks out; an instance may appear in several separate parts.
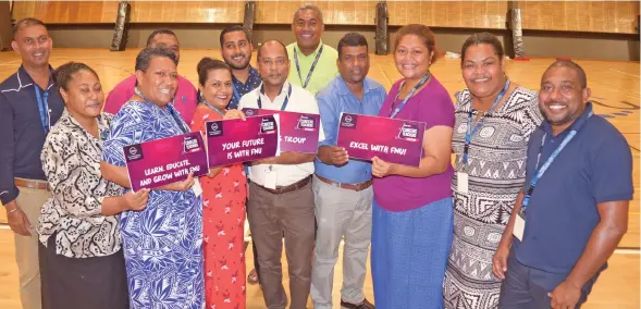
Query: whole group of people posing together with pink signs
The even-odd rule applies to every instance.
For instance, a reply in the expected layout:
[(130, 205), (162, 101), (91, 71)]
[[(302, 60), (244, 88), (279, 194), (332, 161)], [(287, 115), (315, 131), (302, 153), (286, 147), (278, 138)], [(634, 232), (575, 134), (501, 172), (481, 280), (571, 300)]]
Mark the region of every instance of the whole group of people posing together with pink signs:
[[(333, 308), (342, 242), (347, 309), (374, 308), (363, 295), (370, 244), (380, 309), (585, 301), (626, 233), (633, 189), (626, 139), (594, 114), (578, 64), (554, 62), (533, 91), (508, 78), (496, 37), (474, 34), (453, 102), (430, 71), (439, 52), (424, 25), (398, 29), (403, 78), (389, 91), (367, 77), (362, 35), (323, 44), (310, 4), (292, 29), (291, 45), (262, 42), (255, 69), (247, 32), (225, 28), (223, 60), (200, 60), (197, 87), (177, 72), (175, 34), (153, 32), (135, 74), (104, 98), (86, 64), (53, 70), (40, 21), (16, 23), (22, 65), (0, 84), (0, 199), (24, 308), (245, 308), (246, 277), (267, 308), (306, 308), (309, 296)], [(131, 189), (123, 146), (204, 133), (243, 108), (320, 114), (318, 152)], [(352, 159), (336, 146), (342, 112), (426, 123), (420, 165)]]

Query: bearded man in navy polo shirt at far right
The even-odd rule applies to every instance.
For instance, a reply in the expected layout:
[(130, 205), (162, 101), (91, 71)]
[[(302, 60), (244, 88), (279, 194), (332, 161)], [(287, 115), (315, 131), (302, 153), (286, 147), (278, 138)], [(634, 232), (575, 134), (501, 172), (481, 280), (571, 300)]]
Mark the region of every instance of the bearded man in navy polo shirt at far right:
[(594, 114), (583, 70), (555, 62), (539, 96), (545, 121), (530, 137), (527, 182), (493, 261), (500, 308), (580, 307), (628, 226), (632, 154)]

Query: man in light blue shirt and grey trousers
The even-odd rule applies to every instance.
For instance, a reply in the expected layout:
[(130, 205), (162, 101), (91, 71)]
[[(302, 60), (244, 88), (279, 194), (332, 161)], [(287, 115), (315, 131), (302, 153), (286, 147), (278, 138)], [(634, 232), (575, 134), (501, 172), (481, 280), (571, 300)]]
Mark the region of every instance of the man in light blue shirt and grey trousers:
[(318, 224), (311, 298), (315, 308), (332, 307), (334, 265), (345, 236), (343, 259), (343, 308), (374, 308), (362, 294), (366, 261), (371, 239), (371, 162), (350, 160), (336, 147), (342, 112), (377, 115), (385, 100), (385, 88), (371, 78), (368, 45), (363, 36), (347, 34), (338, 41), (341, 73), (317, 94), (325, 140), (320, 143), (313, 181)]

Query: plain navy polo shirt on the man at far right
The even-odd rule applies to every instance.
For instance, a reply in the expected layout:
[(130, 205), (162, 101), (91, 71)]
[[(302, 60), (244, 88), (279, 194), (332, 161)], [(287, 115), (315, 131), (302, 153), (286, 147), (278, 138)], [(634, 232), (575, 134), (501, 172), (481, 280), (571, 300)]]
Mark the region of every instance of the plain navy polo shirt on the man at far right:
[[(525, 265), (552, 273), (569, 273), (583, 254), (601, 218), (596, 206), (631, 200), (632, 154), (626, 138), (592, 104), (572, 126), (557, 136), (544, 121), (530, 137), (526, 186), (572, 127), (582, 127), (537, 183), (526, 208), (522, 243), (514, 238), (516, 258)], [(541, 143), (545, 135), (545, 144)], [(541, 158), (538, 159), (540, 149)]]

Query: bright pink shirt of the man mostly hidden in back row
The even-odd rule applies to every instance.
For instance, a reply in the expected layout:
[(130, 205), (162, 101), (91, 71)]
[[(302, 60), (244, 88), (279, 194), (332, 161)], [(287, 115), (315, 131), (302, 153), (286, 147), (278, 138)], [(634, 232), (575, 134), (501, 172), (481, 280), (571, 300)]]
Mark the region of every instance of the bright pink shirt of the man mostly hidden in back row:
[[(118, 114), (122, 106), (130, 101), (135, 95), (136, 75), (132, 75), (118, 84), (104, 100), (104, 111)], [(187, 78), (178, 75), (178, 88), (173, 101), (174, 108), (178, 111), (186, 123), (192, 123), (192, 118), (198, 106), (196, 88)]]

